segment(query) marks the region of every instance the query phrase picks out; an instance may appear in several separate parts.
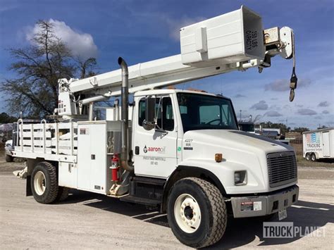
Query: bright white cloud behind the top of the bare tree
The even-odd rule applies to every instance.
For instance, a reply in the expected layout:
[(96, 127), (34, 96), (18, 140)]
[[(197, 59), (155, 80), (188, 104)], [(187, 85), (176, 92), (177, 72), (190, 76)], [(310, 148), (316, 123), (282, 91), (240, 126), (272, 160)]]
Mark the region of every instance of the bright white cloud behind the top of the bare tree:
[[(85, 60), (89, 57), (97, 56), (97, 45), (94, 44), (92, 35), (73, 30), (65, 22), (50, 19), (53, 25), (54, 35), (67, 44), (73, 56)], [(34, 27), (27, 29), (26, 39), (31, 42), (32, 37), (40, 31), (36, 24)]]

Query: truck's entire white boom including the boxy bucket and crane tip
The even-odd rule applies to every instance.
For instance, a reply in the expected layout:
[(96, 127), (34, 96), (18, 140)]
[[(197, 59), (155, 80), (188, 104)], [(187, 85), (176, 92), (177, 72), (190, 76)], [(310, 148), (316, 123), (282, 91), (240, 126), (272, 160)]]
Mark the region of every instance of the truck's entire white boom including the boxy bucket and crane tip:
[[(261, 73), (271, 66), (271, 57), (294, 56), (292, 37), (289, 27), (263, 30), (261, 17), (242, 6), (240, 10), (183, 27), (181, 54), (130, 66), (129, 93), (233, 70), (258, 67)], [(61, 79), (58, 83), (58, 114), (79, 114), (82, 105), (120, 95), (121, 71), (82, 80)]]

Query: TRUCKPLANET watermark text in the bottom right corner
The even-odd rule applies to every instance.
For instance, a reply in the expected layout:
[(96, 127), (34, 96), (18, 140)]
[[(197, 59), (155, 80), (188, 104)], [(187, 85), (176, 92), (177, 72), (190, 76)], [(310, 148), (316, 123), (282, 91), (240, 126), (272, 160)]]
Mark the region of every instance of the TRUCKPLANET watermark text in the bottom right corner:
[(292, 223), (264, 223), (264, 238), (325, 237), (325, 228), (295, 226)]

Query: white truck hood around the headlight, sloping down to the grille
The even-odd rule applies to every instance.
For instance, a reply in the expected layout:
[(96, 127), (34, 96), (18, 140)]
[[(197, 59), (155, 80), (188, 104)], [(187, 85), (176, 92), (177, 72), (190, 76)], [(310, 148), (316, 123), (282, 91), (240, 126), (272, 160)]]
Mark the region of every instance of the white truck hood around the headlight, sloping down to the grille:
[[(267, 154), (293, 151), (291, 146), (240, 130), (192, 130), (185, 132), (180, 165), (206, 168), (218, 177), (228, 194), (271, 192)], [(215, 154), (223, 154), (221, 162)], [(235, 171), (247, 170), (247, 185), (235, 186)]]

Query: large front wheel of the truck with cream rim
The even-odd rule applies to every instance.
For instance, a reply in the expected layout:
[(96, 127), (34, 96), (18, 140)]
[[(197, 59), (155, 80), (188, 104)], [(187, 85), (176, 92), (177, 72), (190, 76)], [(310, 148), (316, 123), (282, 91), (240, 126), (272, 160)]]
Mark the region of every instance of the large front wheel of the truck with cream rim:
[(168, 196), (167, 206), (168, 223), (183, 244), (202, 248), (223, 237), (226, 206), (223, 195), (210, 182), (196, 177), (178, 180)]

